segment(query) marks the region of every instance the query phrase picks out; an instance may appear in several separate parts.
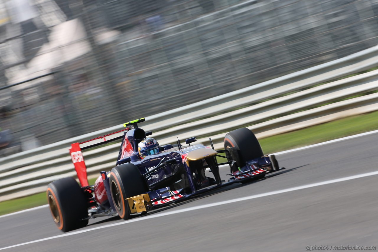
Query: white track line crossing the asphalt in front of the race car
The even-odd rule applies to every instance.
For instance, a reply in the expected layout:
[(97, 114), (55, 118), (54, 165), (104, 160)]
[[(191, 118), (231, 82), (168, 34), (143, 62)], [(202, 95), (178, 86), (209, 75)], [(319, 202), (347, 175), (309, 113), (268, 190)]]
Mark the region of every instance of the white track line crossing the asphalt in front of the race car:
[(124, 225), (124, 224), (128, 224), (128, 223), (131, 223), (131, 222), (144, 221), (146, 219), (159, 218), (159, 217), (163, 217), (163, 216), (167, 216), (167, 215), (174, 215), (176, 213), (189, 212), (189, 211), (194, 211), (194, 210), (203, 209), (203, 208), (216, 207), (216, 206), (219, 206), (219, 205), (231, 204), (231, 203), (235, 203), (235, 202), (239, 202), (239, 201), (246, 201), (246, 200), (256, 199), (256, 198), (262, 198), (262, 197), (265, 197), (265, 196), (271, 196), (271, 195), (276, 195), (276, 194), (280, 194), (280, 193), (287, 193), (287, 192), (290, 192), (290, 191), (297, 191), (297, 190), (302, 190), (302, 189), (311, 188), (311, 187), (318, 187), (320, 185), (328, 185), (328, 184), (333, 184), (333, 183), (337, 183), (337, 182), (342, 182), (342, 181), (347, 181), (347, 180), (352, 180), (352, 179), (358, 179), (358, 178), (361, 178), (361, 177), (374, 176), (374, 175), (377, 175), (377, 174), (378, 174), (378, 171), (373, 171), (373, 172), (370, 172), (370, 173), (363, 173), (363, 174), (358, 174), (358, 175), (354, 175), (354, 176), (342, 177), (342, 178), (339, 178), (339, 179), (332, 179), (332, 180), (327, 180), (327, 181), (323, 181), (323, 182), (318, 182), (318, 183), (313, 183), (313, 184), (308, 184), (308, 185), (302, 185), (302, 186), (299, 186), (299, 187), (291, 187), (291, 188), (287, 188), (287, 189), (283, 189), (283, 190), (271, 191), (271, 192), (268, 192), (268, 193), (260, 193), (260, 194), (255, 194), (255, 195), (246, 196), (246, 197), (242, 197), (242, 198), (230, 199), (228, 201), (221, 201), (221, 202), (215, 202), (215, 203), (211, 203), (211, 204), (200, 205), (200, 206), (196, 206), (196, 207), (183, 208), (183, 209), (180, 209), (180, 210), (173, 210), (173, 211), (167, 211), (167, 212), (163, 212), (163, 213), (156, 213), (156, 214), (152, 214), (152, 215), (148, 215), (148, 216), (144, 216), (144, 217), (134, 218), (134, 219), (131, 219), (129, 221), (117, 222), (117, 223), (108, 224), (108, 225), (104, 225), (104, 226), (100, 226), (100, 227), (83, 229), (83, 230), (74, 231), (74, 232), (70, 232), (70, 233), (64, 233), (62, 235), (56, 235), (56, 236), (46, 237), (46, 238), (39, 239), (39, 240), (28, 241), (26, 243), (20, 243), (20, 244), (15, 244), (15, 245), (8, 246), (8, 247), (2, 247), (2, 248), (0, 248), (0, 250), (10, 249), (10, 248), (13, 248), (13, 247), (19, 247), (19, 246), (23, 246), (23, 245), (27, 245), (27, 244), (32, 244), (32, 243), (38, 243), (38, 242), (41, 242), (41, 241), (53, 240), (53, 239), (71, 236), (71, 235), (77, 235), (77, 234), (80, 234), (80, 233), (86, 233), (86, 232), (90, 232), (90, 231), (93, 231), (93, 230), (105, 229), (105, 228), (108, 228), (108, 227)]

